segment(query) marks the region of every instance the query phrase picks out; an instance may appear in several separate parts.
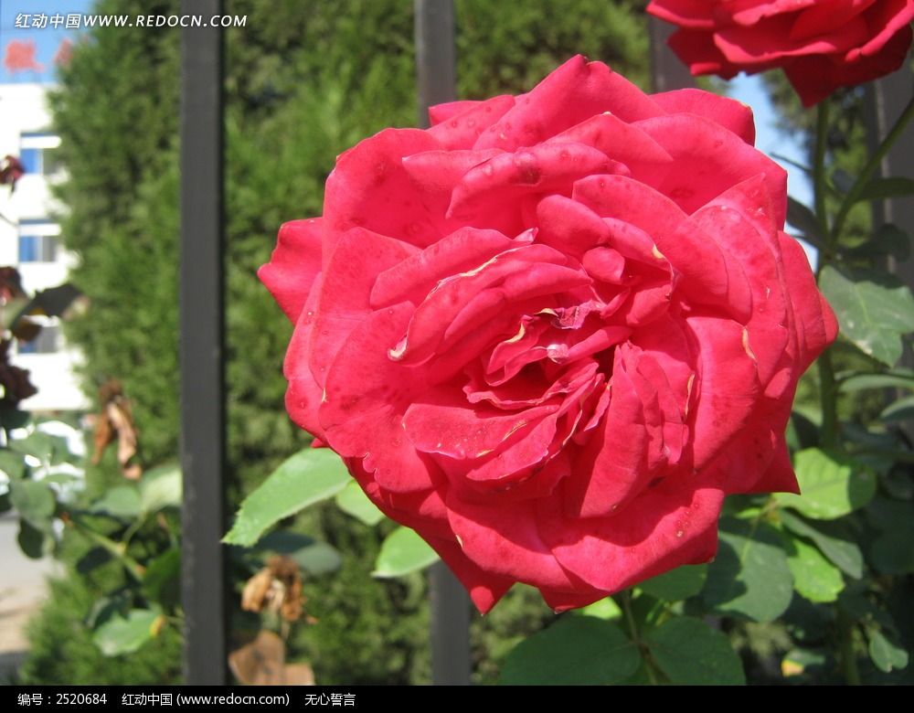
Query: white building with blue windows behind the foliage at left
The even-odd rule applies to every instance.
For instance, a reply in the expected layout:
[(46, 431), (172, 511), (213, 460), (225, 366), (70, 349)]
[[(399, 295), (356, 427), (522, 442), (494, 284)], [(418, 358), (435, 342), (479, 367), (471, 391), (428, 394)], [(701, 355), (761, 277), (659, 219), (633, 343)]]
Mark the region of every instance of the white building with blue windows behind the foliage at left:
[[(60, 138), (51, 131), (46, 94), (48, 84), (0, 84), (0, 158), (19, 158), (26, 175), (16, 191), (0, 186), (0, 266), (15, 265), (25, 291), (67, 282), (72, 255), (61, 249), (58, 218), (63, 207), (50, 187), (62, 176), (55, 159)], [(39, 321), (41, 318), (36, 318)], [(89, 401), (80, 391), (75, 367), (79, 353), (64, 344), (56, 318), (44, 318), (37, 339), (20, 344), (10, 361), (28, 369), (38, 389), (20, 408), (32, 411), (81, 410)]]

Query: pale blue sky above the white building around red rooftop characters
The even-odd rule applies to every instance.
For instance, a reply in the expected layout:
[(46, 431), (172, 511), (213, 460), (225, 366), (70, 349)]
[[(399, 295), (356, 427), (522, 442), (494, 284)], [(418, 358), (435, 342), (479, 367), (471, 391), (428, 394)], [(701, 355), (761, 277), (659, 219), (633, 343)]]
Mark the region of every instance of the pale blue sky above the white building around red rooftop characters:
[(45, 27), (37, 29), (29, 27), (20, 29), (16, 27), (16, 16), (20, 13), (30, 15), (44, 14), (48, 17), (58, 13), (66, 16), (68, 13), (85, 14), (90, 12), (93, 0), (0, 0), (0, 50), (2, 57), (6, 56), (6, 45), (11, 40), (26, 40), (35, 42), (37, 49), (36, 59), (43, 65), (41, 72), (19, 71), (8, 72), (0, 63), (0, 83), (20, 81), (53, 81), (54, 80), (54, 55), (57, 53), (64, 37), (74, 37), (74, 30), (63, 27)]

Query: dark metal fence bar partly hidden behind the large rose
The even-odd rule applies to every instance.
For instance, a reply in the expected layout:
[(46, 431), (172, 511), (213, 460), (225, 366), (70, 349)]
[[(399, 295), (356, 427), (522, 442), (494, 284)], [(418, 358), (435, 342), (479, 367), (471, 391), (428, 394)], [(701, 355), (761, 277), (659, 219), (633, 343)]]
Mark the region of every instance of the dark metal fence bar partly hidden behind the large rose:
[[(429, 107), (456, 98), (453, 0), (415, 0), (419, 123), (429, 125)], [(443, 563), (429, 573), (431, 681), (436, 686), (470, 683), (470, 601)]]

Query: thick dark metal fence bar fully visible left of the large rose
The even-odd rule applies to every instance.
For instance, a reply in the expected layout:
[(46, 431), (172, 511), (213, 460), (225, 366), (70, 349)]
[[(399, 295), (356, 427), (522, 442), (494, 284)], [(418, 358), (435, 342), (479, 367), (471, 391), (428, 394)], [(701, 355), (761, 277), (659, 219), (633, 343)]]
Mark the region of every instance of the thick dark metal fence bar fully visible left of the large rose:
[[(221, 0), (181, 0), (209, 18)], [(188, 684), (228, 682), (223, 366), (222, 33), (181, 29), (181, 597)]]

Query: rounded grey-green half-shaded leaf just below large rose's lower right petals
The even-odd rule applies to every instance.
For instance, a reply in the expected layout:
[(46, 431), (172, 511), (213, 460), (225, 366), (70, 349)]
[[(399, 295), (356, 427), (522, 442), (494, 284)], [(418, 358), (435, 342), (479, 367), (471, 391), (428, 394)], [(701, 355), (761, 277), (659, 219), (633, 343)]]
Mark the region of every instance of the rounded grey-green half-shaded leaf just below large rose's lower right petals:
[(793, 577), (778, 533), (765, 523), (721, 520), (717, 558), (702, 598), (718, 612), (771, 622), (790, 606)]

